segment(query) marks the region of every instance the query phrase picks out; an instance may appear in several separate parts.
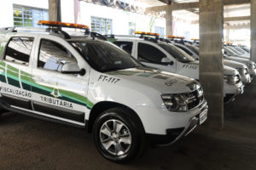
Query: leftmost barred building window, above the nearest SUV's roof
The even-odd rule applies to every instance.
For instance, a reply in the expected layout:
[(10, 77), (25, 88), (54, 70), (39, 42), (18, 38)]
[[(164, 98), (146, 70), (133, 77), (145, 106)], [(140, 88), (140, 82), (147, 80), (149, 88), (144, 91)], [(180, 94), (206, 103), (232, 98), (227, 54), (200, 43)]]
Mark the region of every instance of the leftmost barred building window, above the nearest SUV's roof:
[(14, 26), (38, 26), (38, 20), (49, 20), (48, 10), (14, 5)]

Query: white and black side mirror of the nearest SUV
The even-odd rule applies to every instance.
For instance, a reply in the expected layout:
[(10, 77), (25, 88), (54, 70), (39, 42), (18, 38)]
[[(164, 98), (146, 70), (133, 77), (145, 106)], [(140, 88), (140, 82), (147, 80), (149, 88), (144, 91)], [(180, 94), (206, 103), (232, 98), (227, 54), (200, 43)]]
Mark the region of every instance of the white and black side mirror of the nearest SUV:
[(81, 76), (84, 76), (85, 70), (79, 69), (79, 65), (73, 62), (67, 62), (65, 63), (61, 68), (62, 74), (79, 74)]

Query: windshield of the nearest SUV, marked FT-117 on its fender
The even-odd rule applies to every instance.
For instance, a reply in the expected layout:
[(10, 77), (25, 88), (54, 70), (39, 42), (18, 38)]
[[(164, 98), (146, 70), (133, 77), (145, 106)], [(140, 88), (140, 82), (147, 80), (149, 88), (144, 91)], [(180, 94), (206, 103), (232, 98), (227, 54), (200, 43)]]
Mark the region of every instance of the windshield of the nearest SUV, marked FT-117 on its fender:
[(95, 40), (69, 41), (96, 71), (107, 72), (142, 66), (130, 54), (110, 42)]

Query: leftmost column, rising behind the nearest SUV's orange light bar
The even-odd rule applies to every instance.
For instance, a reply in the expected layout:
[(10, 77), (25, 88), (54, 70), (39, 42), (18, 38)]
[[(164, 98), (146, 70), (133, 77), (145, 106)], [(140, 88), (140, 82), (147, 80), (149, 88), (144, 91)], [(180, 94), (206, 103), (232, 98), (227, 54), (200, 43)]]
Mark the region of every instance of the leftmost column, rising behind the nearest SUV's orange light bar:
[(49, 0), (49, 20), (61, 21), (61, 0)]

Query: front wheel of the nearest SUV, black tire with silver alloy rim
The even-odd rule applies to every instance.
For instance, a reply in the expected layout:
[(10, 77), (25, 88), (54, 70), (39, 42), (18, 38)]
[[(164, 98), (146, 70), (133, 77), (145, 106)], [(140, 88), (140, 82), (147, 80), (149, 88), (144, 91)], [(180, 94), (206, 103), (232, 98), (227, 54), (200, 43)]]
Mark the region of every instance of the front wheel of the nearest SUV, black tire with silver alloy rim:
[(94, 123), (93, 138), (101, 155), (117, 163), (132, 161), (144, 150), (143, 125), (130, 110), (124, 108), (102, 112)]

